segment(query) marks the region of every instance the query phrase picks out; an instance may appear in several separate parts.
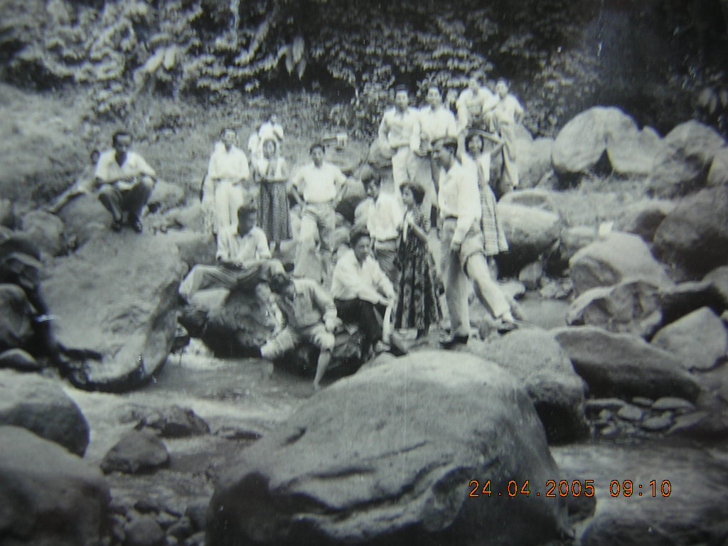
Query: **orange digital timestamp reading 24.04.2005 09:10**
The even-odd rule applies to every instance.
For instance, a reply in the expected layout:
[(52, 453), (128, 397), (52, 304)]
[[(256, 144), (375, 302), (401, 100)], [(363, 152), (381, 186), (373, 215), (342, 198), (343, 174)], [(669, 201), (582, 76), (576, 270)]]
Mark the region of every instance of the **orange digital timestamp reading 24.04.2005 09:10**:
[[(483, 488), (480, 488), (480, 482), (478, 480), (470, 480), (469, 486), (471, 488), (469, 496), (518, 496), (536, 494), (539, 496), (541, 491), (531, 491), (530, 480), (525, 480), (521, 486), (518, 485), (516, 480), (510, 480), (505, 487), (505, 491), (491, 490), (491, 480), (486, 480)], [(609, 483), (609, 494), (611, 496), (643, 496), (643, 485), (638, 483), (635, 487), (632, 480), (612, 480)], [(660, 483), (659, 491), (662, 496), (670, 496), (672, 487), (670, 486), (670, 480), (662, 480)], [(649, 483), (644, 485), (644, 496), (657, 497), (657, 480), (650, 480)], [(544, 496), (594, 496), (594, 480), (559, 480), (558, 484), (555, 480), (546, 481), (546, 491)]]

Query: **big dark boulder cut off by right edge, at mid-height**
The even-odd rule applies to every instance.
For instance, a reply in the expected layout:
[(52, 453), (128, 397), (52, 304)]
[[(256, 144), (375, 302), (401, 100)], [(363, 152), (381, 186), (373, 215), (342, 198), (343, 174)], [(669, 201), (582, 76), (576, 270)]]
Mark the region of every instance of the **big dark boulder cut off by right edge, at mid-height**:
[(683, 279), (697, 280), (728, 264), (728, 186), (686, 197), (660, 223), (654, 254)]

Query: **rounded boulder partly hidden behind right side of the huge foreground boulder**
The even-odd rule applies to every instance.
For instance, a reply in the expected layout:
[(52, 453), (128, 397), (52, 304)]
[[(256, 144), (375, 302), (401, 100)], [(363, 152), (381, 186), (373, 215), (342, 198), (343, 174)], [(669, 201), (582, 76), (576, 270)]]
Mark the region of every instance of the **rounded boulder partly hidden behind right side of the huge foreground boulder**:
[(534, 402), (550, 443), (583, 438), (584, 383), (553, 336), (539, 328), (486, 343), (482, 356), (509, 371)]

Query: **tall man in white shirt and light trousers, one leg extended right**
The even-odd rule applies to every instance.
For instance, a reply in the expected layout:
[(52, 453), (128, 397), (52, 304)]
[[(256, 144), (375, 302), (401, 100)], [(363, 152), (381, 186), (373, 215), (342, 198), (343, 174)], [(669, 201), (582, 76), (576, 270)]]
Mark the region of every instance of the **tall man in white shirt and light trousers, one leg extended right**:
[(444, 138), (435, 142), (432, 155), (442, 167), (440, 174), (440, 242), (445, 298), (453, 331), (451, 343), (467, 343), (470, 312), (467, 305), (468, 283), (490, 309), (502, 329), (513, 328), (515, 319), (510, 304), (488, 270), (480, 231), (480, 193), (474, 162), (464, 165), (456, 158), (457, 141)]

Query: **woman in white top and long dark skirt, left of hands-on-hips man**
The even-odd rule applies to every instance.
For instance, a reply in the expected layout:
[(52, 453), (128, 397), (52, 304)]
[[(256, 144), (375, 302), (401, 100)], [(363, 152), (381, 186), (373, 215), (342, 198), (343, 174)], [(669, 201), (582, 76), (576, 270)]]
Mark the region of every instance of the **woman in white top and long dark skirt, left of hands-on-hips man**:
[(268, 138), (263, 143), (263, 157), (256, 162), (256, 179), (260, 183), (261, 197), (258, 221), (273, 251), (280, 250), (280, 242), (291, 238), (288, 211), (288, 165), (280, 157), (277, 141)]

